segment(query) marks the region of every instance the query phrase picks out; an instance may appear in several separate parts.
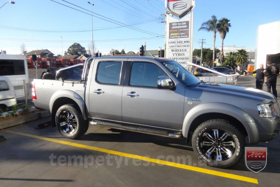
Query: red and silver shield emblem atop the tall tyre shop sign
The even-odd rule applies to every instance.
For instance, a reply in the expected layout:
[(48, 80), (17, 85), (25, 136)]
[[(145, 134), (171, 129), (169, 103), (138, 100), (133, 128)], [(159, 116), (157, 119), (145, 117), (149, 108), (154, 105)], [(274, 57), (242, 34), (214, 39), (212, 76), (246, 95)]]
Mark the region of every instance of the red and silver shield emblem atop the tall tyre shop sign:
[(194, 8), (195, 0), (165, 0), (165, 6), (170, 14), (182, 18)]

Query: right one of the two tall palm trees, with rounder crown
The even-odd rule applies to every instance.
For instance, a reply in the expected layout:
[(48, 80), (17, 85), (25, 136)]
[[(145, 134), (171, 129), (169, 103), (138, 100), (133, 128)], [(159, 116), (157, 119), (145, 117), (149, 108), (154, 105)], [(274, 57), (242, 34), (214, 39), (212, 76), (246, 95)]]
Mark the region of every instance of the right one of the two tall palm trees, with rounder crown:
[(227, 18), (222, 18), (218, 21), (217, 23), (217, 29), (218, 32), (220, 33), (221, 39), (222, 39), (222, 50), (220, 52), (220, 62), (223, 64), (224, 60), (224, 39), (226, 37), (226, 33), (229, 31), (229, 28), (231, 27), (231, 24), (229, 23), (230, 20)]

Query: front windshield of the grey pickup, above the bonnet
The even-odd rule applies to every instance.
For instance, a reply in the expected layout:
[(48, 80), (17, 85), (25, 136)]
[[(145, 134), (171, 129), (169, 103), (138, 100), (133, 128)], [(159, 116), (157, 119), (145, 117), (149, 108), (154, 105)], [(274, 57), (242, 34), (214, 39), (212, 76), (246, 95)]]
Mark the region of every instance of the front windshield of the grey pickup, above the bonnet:
[(184, 85), (188, 87), (196, 86), (200, 81), (176, 61), (161, 61)]

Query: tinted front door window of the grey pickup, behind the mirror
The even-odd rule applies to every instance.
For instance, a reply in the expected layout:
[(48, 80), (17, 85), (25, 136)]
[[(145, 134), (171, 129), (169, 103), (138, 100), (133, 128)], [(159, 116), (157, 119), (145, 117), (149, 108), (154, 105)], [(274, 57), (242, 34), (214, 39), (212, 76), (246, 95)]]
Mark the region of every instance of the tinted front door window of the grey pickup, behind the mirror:
[(147, 62), (132, 63), (130, 85), (157, 87), (159, 78), (169, 77), (157, 65)]

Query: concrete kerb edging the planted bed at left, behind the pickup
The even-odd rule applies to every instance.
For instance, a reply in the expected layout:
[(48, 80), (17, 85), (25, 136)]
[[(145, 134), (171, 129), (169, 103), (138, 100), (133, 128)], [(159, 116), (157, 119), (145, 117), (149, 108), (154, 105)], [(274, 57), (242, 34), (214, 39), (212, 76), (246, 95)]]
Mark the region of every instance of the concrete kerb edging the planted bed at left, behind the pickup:
[(23, 123), (35, 121), (37, 119), (41, 119), (44, 117), (49, 117), (51, 114), (49, 111), (42, 111), (42, 112), (36, 112), (20, 117), (13, 117), (11, 119), (6, 119), (6, 120), (0, 120), (0, 129), (5, 129), (9, 127), (13, 127), (16, 125), (21, 125)]

